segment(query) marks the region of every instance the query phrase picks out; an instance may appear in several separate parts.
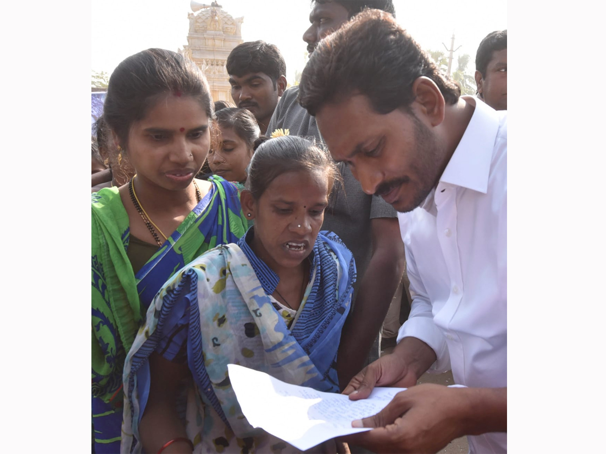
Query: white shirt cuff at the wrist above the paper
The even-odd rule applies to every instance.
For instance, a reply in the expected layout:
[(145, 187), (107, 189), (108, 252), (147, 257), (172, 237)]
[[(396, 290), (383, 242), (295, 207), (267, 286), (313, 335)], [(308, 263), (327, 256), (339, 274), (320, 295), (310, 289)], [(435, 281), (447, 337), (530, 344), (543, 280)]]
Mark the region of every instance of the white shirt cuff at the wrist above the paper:
[(450, 355), (446, 338), (431, 318), (409, 318), (398, 330), (396, 342), (400, 343), (405, 337), (416, 337), (424, 341), (435, 352), (438, 359), (431, 364), (427, 372), (442, 373), (450, 370)]

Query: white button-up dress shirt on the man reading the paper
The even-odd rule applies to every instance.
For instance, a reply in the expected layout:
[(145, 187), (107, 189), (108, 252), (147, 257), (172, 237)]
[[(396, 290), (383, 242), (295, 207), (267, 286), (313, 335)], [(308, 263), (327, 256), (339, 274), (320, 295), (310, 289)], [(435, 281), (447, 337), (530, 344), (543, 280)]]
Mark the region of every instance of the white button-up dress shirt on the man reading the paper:
[[(484, 102), (438, 186), (399, 213), (410, 294), (398, 342), (416, 337), (455, 383), (507, 387), (507, 111)], [(468, 436), (470, 452), (507, 452), (507, 433)]]

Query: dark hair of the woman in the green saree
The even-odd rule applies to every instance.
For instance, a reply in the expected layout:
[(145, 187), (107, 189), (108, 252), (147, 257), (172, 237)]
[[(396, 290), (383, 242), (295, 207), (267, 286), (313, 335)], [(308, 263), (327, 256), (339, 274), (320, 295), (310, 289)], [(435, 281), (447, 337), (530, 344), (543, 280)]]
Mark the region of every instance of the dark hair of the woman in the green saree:
[(181, 54), (147, 49), (118, 65), (107, 86), (103, 117), (123, 148), (128, 145), (133, 122), (143, 119), (158, 97), (169, 93), (194, 97), (208, 118), (213, 117), (214, 105), (204, 73)]

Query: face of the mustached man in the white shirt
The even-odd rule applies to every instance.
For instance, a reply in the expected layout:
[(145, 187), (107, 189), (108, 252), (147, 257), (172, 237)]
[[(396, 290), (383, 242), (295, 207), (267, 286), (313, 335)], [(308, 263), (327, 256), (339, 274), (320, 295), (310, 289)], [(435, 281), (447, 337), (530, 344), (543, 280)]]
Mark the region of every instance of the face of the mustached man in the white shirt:
[(415, 114), (379, 114), (358, 94), (325, 104), (316, 121), (333, 159), (349, 166), (364, 192), (396, 210), (415, 209), (438, 182), (444, 153)]

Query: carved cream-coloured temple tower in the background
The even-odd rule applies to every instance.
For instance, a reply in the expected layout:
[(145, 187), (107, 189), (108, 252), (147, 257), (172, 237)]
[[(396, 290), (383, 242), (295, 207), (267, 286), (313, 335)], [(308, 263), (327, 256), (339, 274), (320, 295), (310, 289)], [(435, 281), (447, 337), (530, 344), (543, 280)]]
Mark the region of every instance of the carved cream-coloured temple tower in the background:
[(182, 53), (204, 71), (213, 101), (231, 102), (225, 61), (231, 50), (244, 42), (241, 34), (244, 17), (234, 19), (217, 2), (206, 5), (192, 1), (191, 10), (198, 13), (187, 15), (190, 27)]

